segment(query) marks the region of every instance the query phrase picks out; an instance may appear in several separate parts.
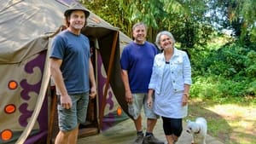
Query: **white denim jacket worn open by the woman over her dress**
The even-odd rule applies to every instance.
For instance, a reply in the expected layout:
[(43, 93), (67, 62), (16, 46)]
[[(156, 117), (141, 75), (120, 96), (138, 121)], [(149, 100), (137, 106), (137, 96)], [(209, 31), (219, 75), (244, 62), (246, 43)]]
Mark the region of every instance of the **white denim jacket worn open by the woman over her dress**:
[[(164, 67), (166, 65), (164, 52), (154, 57), (153, 72), (148, 84), (148, 89), (154, 89), (156, 94), (160, 94), (163, 79)], [(189, 56), (186, 52), (174, 48), (174, 53), (170, 60), (172, 72), (172, 86), (174, 92), (182, 91), (184, 84), (192, 84), (191, 66)]]

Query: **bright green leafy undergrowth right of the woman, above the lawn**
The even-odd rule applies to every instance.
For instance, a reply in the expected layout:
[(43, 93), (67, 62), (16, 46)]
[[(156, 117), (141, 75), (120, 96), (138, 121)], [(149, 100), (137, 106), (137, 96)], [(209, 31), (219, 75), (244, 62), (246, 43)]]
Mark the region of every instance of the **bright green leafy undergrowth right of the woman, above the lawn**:
[(256, 95), (256, 51), (253, 45), (228, 43), (218, 49), (191, 51), (192, 95), (225, 101), (230, 96)]

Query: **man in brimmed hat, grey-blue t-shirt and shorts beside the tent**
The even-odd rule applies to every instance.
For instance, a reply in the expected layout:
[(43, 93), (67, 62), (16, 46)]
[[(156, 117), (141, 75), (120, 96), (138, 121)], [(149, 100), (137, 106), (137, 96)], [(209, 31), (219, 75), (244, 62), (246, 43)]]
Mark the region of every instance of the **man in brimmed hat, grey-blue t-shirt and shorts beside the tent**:
[(55, 144), (77, 143), (89, 97), (96, 96), (90, 41), (81, 34), (89, 15), (89, 11), (77, 4), (67, 9), (64, 13), (67, 30), (56, 35), (52, 43), (50, 72), (57, 89), (60, 129)]

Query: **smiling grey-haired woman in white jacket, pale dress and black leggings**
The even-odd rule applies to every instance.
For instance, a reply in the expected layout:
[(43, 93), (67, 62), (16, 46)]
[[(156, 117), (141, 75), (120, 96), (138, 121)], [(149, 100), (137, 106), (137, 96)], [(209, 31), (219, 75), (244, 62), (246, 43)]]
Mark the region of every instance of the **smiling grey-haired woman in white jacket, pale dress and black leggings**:
[(188, 113), (191, 66), (187, 53), (174, 47), (171, 32), (158, 33), (155, 43), (163, 52), (154, 57), (147, 104), (161, 116), (166, 140), (173, 144), (183, 131), (182, 121)]

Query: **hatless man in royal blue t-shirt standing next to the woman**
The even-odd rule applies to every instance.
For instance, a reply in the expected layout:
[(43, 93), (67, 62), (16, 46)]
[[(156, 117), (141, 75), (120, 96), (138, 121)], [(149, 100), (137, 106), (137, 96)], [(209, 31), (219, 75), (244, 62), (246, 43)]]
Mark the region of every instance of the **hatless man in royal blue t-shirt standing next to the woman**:
[[(125, 46), (121, 55), (121, 76), (125, 85), (125, 100), (128, 103), (129, 113), (133, 117), (137, 129), (137, 138), (134, 144), (164, 144), (153, 135), (154, 125), (159, 116), (148, 108), (146, 101), (148, 84), (150, 81), (154, 55), (157, 49), (153, 43), (146, 41), (147, 26), (137, 23), (132, 27), (134, 41)], [(141, 111), (144, 108), (147, 118), (146, 135), (143, 134)]]

